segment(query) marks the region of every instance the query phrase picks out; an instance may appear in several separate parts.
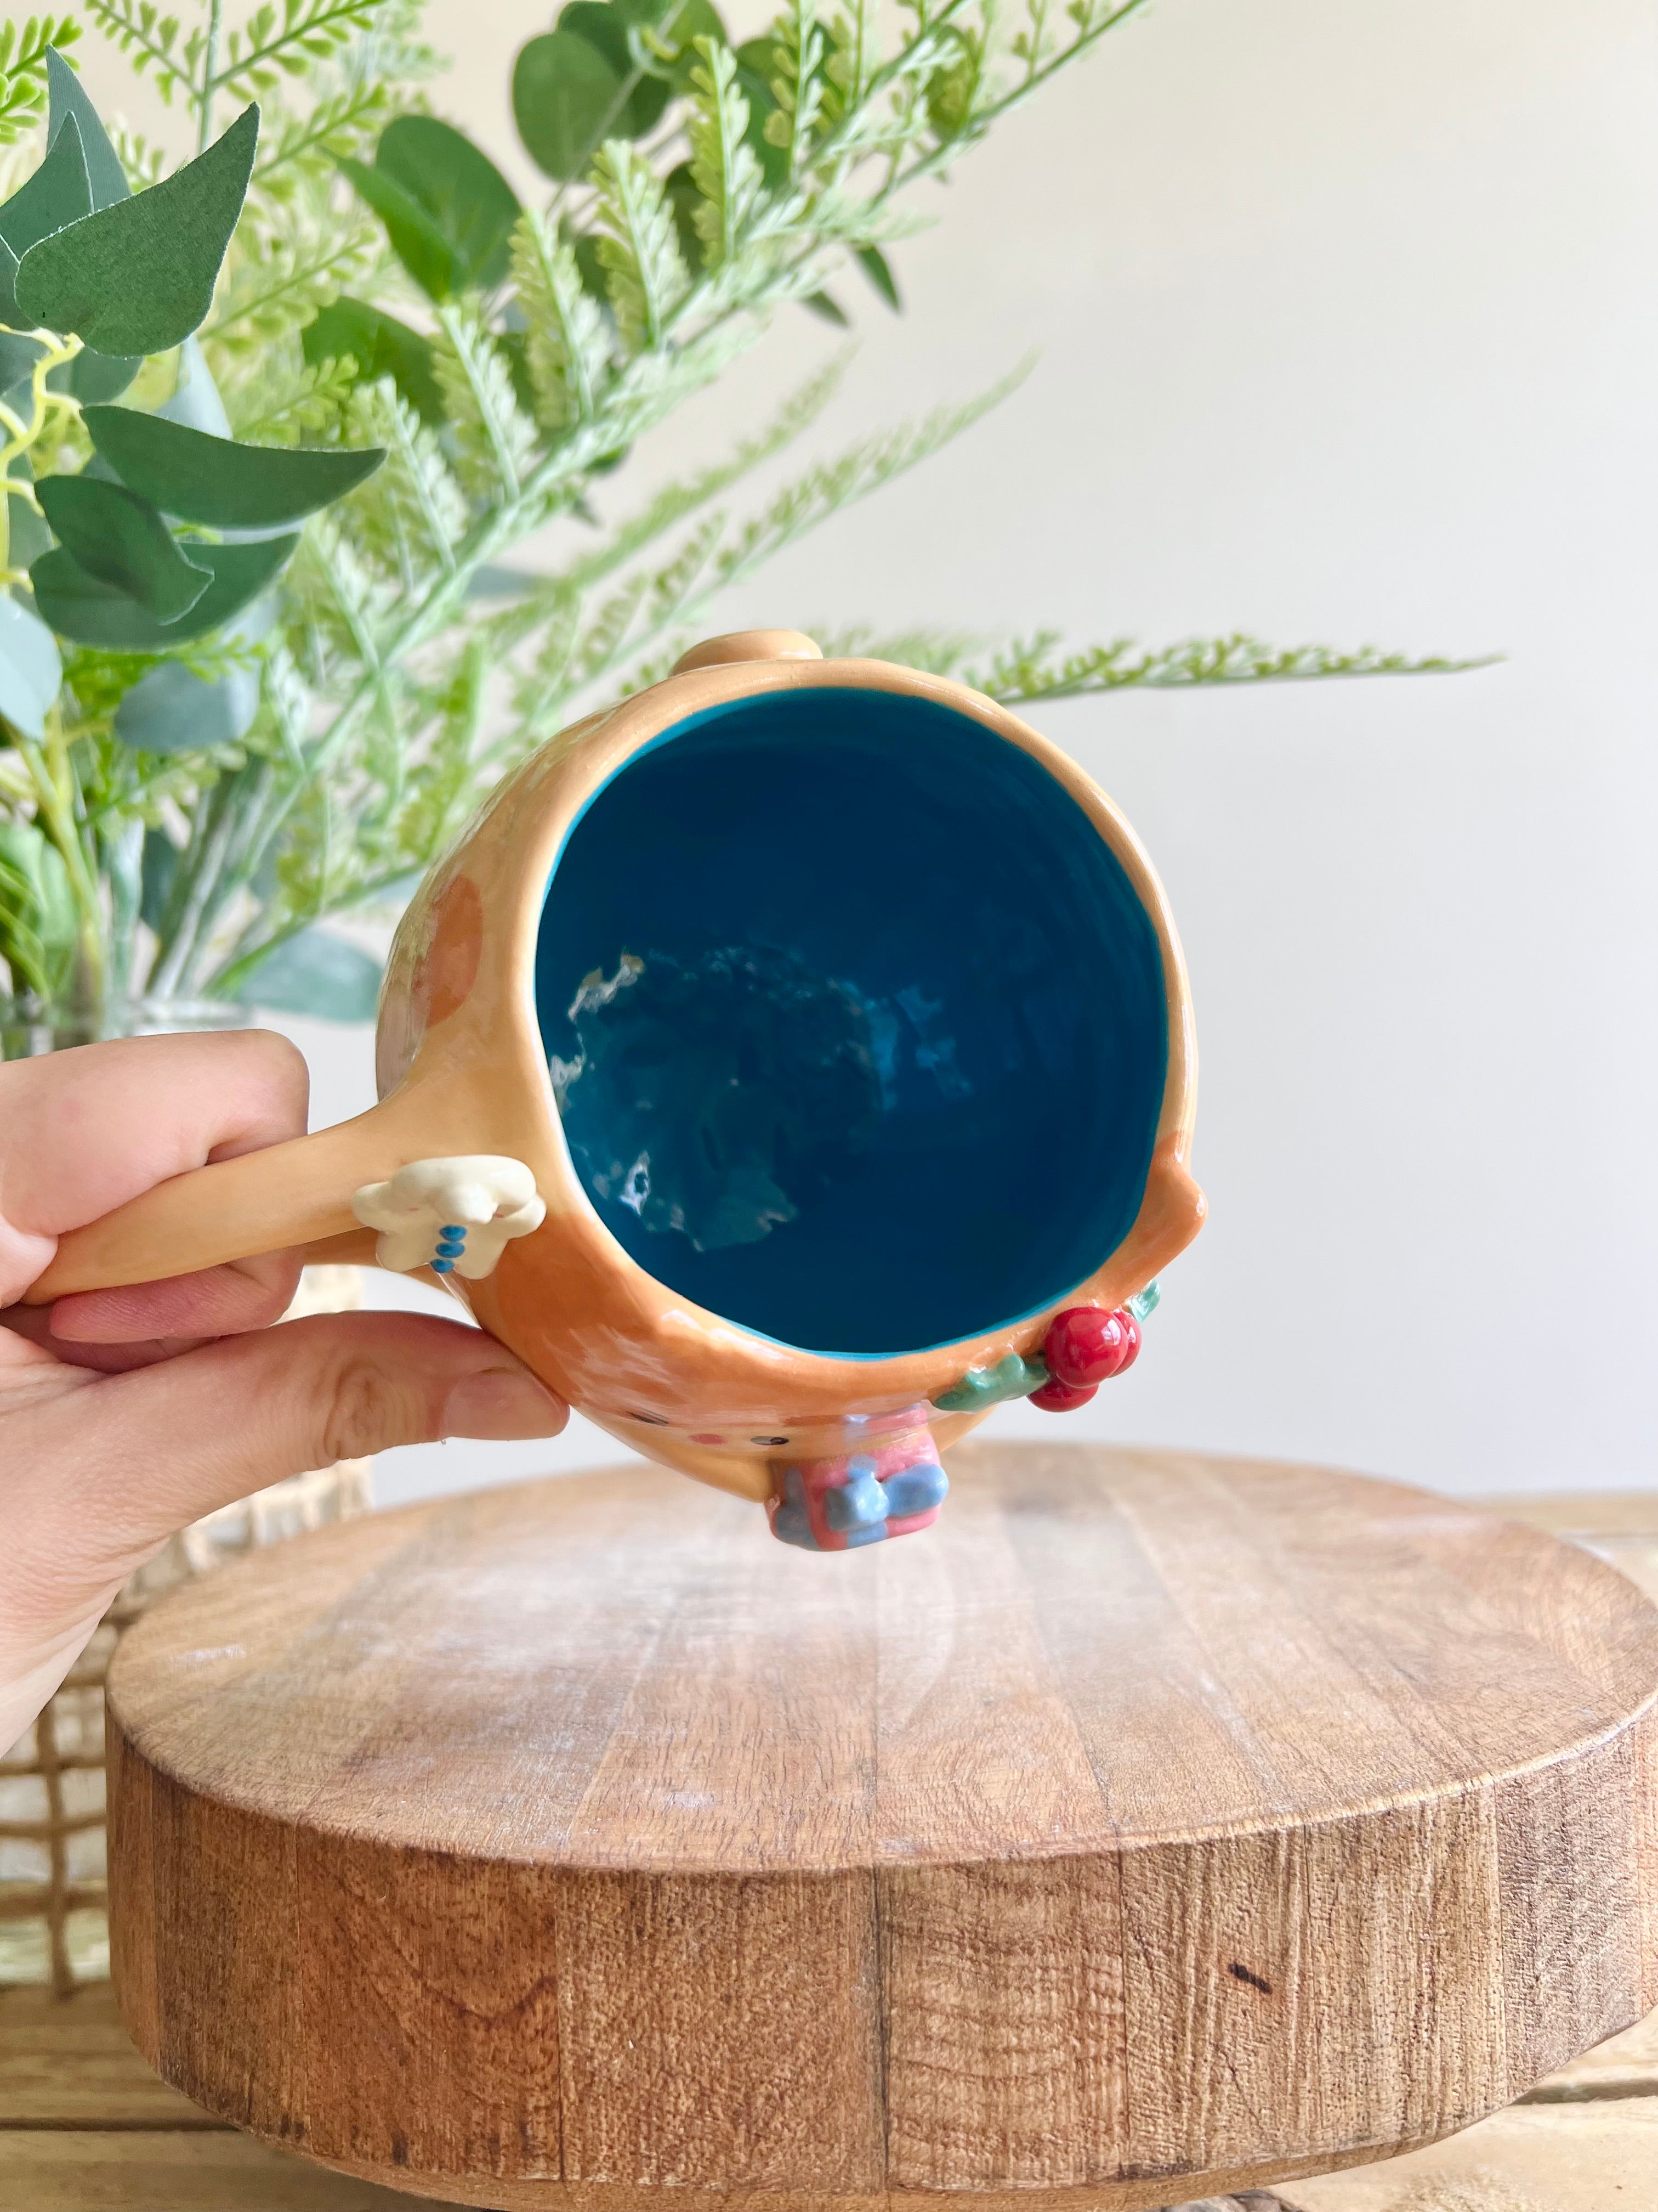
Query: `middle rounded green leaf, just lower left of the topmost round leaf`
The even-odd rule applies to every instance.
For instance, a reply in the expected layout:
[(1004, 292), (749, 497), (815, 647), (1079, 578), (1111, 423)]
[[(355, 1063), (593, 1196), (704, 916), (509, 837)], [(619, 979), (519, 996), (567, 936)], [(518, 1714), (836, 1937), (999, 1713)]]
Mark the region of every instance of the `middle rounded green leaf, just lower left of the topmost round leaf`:
[[(387, 223), (398, 259), (433, 299), (497, 285), (506, 276), (517, 192), (460, 131), (436, 115), (398, 115), (380, 133), (369, 173), (374, 186), (363, 184), (358, 164), (347, 164), (347, 175)], [(420, 259), (442, 290), (433, 290), (407, 259), (391, 230), (393, 219), (413, 228)], [(442, 241), (442, 254), (433, 252), (433, 239)]]

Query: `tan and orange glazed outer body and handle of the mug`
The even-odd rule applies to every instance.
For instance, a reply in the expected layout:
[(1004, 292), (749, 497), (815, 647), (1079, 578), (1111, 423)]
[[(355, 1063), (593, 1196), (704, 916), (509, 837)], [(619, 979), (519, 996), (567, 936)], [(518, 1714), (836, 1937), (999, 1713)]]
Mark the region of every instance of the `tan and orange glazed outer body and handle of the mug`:
[[(816, 692), (833, 692), (836, 701), (802, 699)], [(1017, 748), (1039, 781), (1052, 779), (1108, 847), (1150, 922), (1165, 1002), (1161, 1097), (1147, 1108), (1150, 1157), (1132, 1225), (1112, 1250), (1090, 1254), (1079, 1279), (1054, 1283), (1041, 1310), (1001, 1323), (993, 1310), (970, 1336), (851, 1356), (800, 1349), (734, 1323), (663, 1283), (626, 1250), (577, 1172), (548, 1075), (546, 1002), (537, 1015), (544, 907), (566, 865), (562, 856), (575, 849), (573, 834), (599, 794), (626, 792), (632, 763), (659, 757), (668, 732), (710, 710), (725, 710), (730, 728), (741, 730), (745, 719), (760, 717), (756, 728), (763, 728), (765, 714), (800, 708), (822, 719), (829, 706), (842, 719), (864, 708), (931, 710), (928, 730), (937, 723), (984, 748), (973, 737), (977, 728)], [(787, 730), (780, 741), (789, 741)], [(1028, 765), (1012, 765), (1030, 779)], [(1048, 794), (1043, 805), (1052, 803), (1052, 787)], [(880, 812), (875, 774), (871, 836), (880, 836)], [(867, 896), (867, 883), (851, 896)], [(990, 951), (986, 989), (995, 989), (995, 969)], [(500, 1155), (533, 1172), (546, 1219), (506, 1243), (491, 1274), (480, 1281), (449, 1274), (447, 1287), (610, 1436), (699, 1482), (772, 1500), (776, 1511), (787, 1467), (833, 1462), (860, 1444), (880, 1449), (882, 1438), (911, 1431), (937, 1449), (951, 1444), (982, 1413), (940, 1409), (937, 1400), (955, 1396), (959, 1407), (964, 1378), (993, 1374), (1015, 1356), (1039, 1360), (1061, 1307), (1121, 1307), (1192, 1241), (1203, 1219), (1203, 1194), (1187, 1168), (1196, 1104), (1187, 975), (1163, 887), (1134, 832), (1063, 752), (979, 692), (886, 661), (827, 661), (809, 639), (787, 630), (699, 646), (663, 684), (562, 732), (508, 776), (431, 869), (398, 929), (380, 995), (376, 1062), (380, 1104), (369, 1113), (181, 1175), (64, 1237), (31, 1303), (292, 1245), (318, 1248), (307, 1254), (316, 1259), (367, 1259), (367, 1237), (354, 1217), (363, 1186), (411, 1161)], [(997, 1161), (986, 1159), (984, 1170), (993, 1177)], [(1057, 1177), (1054, 1206), (1074, 1197)], [(895, 1223), (900, 1250), (902, 1234)], [(871, 1265), (893, 1263), (893, 1252), (871, 1252)]]

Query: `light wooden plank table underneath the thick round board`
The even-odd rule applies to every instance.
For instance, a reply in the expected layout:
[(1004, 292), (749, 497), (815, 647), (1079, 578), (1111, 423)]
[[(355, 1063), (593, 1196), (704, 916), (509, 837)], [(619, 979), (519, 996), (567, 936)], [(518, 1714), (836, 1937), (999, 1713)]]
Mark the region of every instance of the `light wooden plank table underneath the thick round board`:
[[(1658, 1498), (1508, 1500), (1658, 1597)], [(0, 1993), (4, 2212), (347, 2212), (416, 2203), (265, 2148), (166, 2088), (108, 1991)], [(1658, 2212), (1658, 2015), (1448, 2143), (1251, 2192), (1247, 2212)]]

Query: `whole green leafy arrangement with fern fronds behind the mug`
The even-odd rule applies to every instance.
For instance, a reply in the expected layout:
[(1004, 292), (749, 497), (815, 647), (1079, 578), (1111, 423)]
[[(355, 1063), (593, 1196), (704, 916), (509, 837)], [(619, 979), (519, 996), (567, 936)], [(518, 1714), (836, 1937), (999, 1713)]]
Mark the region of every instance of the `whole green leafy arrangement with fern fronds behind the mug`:
[[(13, 989), (360, 1013), (332, 918), (393, 900), (579, 706), (650, 681), (721, 591), (966, 431), (1017, 380), (730, 495), (802, 438), (831, 363), (734, 453), (617, 511), (619, 471), (776, 319), (900, 307), (915, 192), (1143, 0), (568, 0), (513, 69), (524, 208), (427, 111), (420, 0), (188, 27), (80, 15), (195, 128), (104, 133), (77, 18), (0, 44), (0, 953)], [(263, 115), (252, 102), (261, 102)], [(241, 113), (232, 113), (241, 108)], [(604, 520), (601, 520), (604, 518)], [(524, 540), (566, 524), (528, 573)], [(869, 641), (995, 697), (1441, 668), (1249, 639)], [(73, 920), (73, 927), (71, 927)]]

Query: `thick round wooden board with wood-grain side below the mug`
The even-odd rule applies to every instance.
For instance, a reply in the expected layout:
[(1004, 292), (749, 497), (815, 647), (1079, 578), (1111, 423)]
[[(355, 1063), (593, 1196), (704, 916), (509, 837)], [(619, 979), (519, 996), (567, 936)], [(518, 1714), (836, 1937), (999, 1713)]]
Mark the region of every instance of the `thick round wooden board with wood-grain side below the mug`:
[(347, 2172), (570, 2212), (1143, 2208), (1658, 2002), (1658, 1613), (1419, 1491), (953, 1455), (818, 1557), (632, 1467), (327, 1528), (111, 1674), (124, 2017)]

